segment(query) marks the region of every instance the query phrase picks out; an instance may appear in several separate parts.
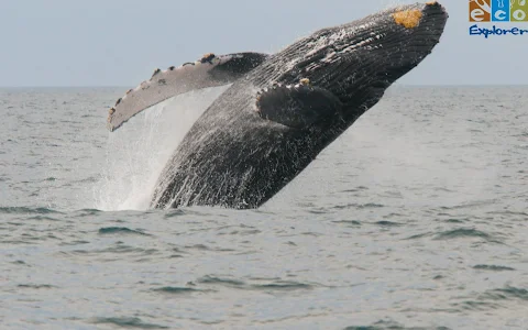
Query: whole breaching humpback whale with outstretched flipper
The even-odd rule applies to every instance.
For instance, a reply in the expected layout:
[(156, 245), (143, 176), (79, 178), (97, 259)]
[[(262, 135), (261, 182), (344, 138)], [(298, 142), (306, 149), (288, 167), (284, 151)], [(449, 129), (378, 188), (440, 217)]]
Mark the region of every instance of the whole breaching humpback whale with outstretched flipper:
[(276, 54), (207, 54), (156, 69), (110, 109), (108, 128), (170, 97), (232, 84), (172, 155), (151, 207), (257, 208), (429, 55), (447, 20), (436, 1), (399, 6)]

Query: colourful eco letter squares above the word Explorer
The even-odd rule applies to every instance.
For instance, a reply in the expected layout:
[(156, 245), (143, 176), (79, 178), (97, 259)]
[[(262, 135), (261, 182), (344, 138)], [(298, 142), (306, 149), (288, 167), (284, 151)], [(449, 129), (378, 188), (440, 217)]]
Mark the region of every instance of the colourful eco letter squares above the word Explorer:
[(470, 0), (470, 22), (528, 22), (528, 0)]

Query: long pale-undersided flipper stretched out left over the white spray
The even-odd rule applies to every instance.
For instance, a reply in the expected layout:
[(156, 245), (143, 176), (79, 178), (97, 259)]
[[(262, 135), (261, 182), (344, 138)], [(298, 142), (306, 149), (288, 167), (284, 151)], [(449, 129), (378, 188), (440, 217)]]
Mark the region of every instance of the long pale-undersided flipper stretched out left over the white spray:
[(267, 56), (261, 53), (206, 54), (201, 59), (180, 67), (172, 66), (163, 72), (155, 69), (150, 80), (127, 91), (109, 110), (107, 127), (114, 131), (136, 113), (174, 96), (231, 84)]

